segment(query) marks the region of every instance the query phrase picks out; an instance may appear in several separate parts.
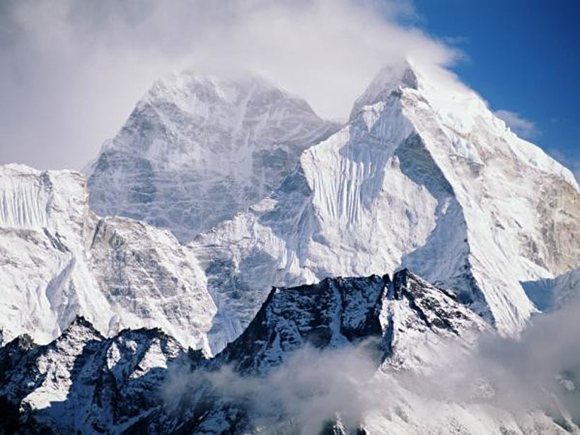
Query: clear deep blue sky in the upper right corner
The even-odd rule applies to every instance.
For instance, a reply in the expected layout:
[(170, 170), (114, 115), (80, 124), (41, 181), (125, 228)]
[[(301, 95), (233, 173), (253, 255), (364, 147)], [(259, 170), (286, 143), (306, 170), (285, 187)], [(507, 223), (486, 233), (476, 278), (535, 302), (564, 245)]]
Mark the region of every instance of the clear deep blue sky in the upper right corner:
[(460, 78), (493, 110), (518, 114), (522, 135), (579, 178), (580, 1), (415, 0), (414, 6), (413, 25), (465, 54), (453, 67)]

